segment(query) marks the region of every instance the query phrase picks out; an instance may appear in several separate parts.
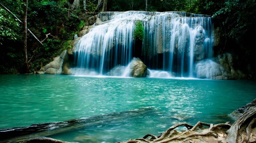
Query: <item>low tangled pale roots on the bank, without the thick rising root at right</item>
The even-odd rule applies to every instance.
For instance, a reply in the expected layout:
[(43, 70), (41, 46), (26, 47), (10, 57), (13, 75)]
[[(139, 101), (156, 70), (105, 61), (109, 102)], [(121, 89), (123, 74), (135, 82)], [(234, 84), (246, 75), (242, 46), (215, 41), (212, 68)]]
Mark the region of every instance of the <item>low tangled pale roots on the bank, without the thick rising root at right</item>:
[[(185, 126), (188, 130), (178, 132), (175, 130), (177, 127)], [(206, 126), (206, 127), (204, 127)], [(231, 123), (225, 124), (208, 124), (203, 122), (197, 122), (195, 126), (187, 123), (176, 124), (168, 128), (162, 135), (155, 136), (148, 134), (142, 139), (128, 140), (127, 142), (118, 143), (184, 143), (184, 142), (211, 142), (218, 143), (224, 142), (225, 133), (231, 127)], [(150, 139), (146, 139), (151, 137)]]

